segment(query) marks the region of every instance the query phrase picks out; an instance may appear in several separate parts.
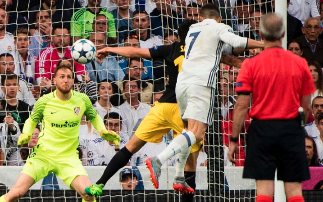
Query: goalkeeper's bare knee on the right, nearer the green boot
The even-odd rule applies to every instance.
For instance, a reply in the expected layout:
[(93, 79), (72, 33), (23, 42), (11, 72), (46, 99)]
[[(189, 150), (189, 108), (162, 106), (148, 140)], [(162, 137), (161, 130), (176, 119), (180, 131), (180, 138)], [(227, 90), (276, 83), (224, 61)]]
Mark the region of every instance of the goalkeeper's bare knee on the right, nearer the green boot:
[(75, 189), (75, 191), (78, 194), (80, 194), (80, 196), (85, 201), (96, 201), (94, 196), (90, 196), (84, 191), (86, 187), (89, 187), (91, 185), (92, 185), (92, 182), (88, 176), (79, 175), (73, 180), (71, 187), (73, 187)]

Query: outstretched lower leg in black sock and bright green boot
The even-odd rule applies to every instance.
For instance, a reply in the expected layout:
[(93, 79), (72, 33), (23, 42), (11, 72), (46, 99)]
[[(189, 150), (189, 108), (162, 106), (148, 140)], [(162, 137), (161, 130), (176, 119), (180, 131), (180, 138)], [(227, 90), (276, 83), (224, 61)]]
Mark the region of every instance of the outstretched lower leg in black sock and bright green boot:
[(127, 142), (126, 146), (122, 148), (106, 166), (101, 178), (92, 186), (85, 188), (85, 192), (89, 195), (99, 196), (102, 193), (103, 187), (106, 182), (116, 174), (119, 169), (126, 166), (133, 154), (135, 154), (143, 145), (145, 141), (139, 139), (136, 134), (134, 134), (131, 139)]

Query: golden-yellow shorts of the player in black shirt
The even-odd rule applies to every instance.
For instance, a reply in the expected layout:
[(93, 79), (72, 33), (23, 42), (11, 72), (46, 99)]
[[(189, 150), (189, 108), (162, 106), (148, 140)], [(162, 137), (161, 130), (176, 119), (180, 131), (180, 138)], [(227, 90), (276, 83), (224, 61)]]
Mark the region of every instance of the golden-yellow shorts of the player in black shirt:
[[(177, 103), (158, 103), (155, 102), (150, 112), (140, 123), (135, 134), (146, 142), (159, 143), (161, 137), (171, 129), (174, 131), (174, 138), (181, 134), (184, 128), (180, 117)], [(203, 141), (197, 142), (191, 147), (191, 153), (198, 151)]]

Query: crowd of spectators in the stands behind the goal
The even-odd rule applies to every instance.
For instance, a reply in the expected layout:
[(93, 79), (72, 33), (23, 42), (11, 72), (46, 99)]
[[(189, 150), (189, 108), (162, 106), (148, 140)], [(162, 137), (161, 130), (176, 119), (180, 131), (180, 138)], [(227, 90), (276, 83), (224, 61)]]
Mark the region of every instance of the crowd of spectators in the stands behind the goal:
[[(312, 97), (323, 96), (323, 1), (287, 2), (288, 49), (308, 61), (317, 89)], [(0, 166), (24, 165), (29, 150), (36, 145), (41, 126), (35, 129), (29, 145), (19, 148), (17, 139), (35, 101), (55, 90), (51, 78), (60, 64), (74, 70), (74, 90), (90, 97), (106, 128), (118, 132), (122, 139), (120, 147), (106, 142), (84, 119), (79, 136), (79, 154), (84, 166), (109, 163), (163, 94), (168, 82), (163, 60), (111, 55), (80, 65), (71, 59), (71, 45), (77, 39), (88, 38), (97, 49), (107, 45), (138, 48), (168, 45), (179, 40), (176, 30), (184, 19), (199, 20), (202, 5), (214, 3), (221, 8), (222, 22), (232, 26), (236, 34), (261, 40), (258, 35), (260, 17), (275, 11), (275, 0), (2, 0), (0, 3)], [(253, 51), (250, 51), (239, 57), (252, 56)], [(246, 117), (239, 140), (239, 161), (232, 165), (226, 161), (226, 151), (230, 146), (236, 98), (234, 83), (239, 68), (221, 64), (218, 78), (225, 166), (243, 166), (246, 131), (251, 121)], [(314, 116), (306, 126), (310, 136), (307, 139), (313, 141), (306, 141), (306, 153), (309, 165), (321, 166), (323, 122), (321, 128), (316, 126), (320, 126), (323, 97), (314, 100), (317, 102), (312, 108)], [(158, 144), (147, 143), (128, 165), (143, 166), (146, 158), (157, 155), (171, 140), (172, 131)], [(207, 155), (202, 148), (197, 165), (206, 166), (206, 163)], [(175, 159), (167, 162), (168, 166), (175, 164)]]

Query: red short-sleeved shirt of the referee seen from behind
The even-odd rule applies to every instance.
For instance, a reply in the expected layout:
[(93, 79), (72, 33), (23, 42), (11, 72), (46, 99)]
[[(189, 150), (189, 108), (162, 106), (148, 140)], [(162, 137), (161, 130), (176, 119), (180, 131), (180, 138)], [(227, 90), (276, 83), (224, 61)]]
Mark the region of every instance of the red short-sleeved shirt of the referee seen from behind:
[(300, 98), (313, 93), (315, 86), (305, 59), (273, 47), (243, 62), (235, 89), (252, 92), (250, 117), (292, 119), (298, 115)]

